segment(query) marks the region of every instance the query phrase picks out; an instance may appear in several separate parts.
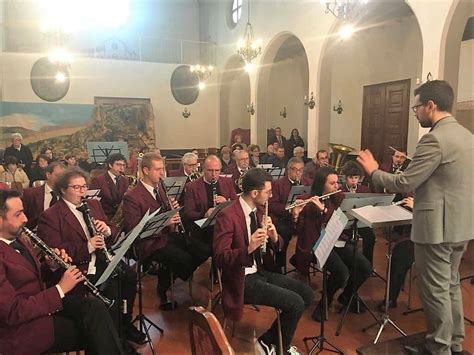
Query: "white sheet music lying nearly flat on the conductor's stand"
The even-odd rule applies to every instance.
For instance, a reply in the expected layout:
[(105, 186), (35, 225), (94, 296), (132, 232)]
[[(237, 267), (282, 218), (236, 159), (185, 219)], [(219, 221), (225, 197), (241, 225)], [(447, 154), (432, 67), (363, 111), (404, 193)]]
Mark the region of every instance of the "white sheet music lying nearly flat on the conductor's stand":
[(351, 210), (351, 214), (372, 228), (411, 224), (413, 214), (400, 206), (364, 206)]

